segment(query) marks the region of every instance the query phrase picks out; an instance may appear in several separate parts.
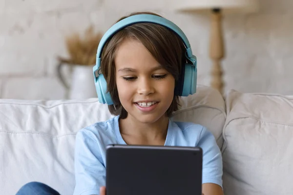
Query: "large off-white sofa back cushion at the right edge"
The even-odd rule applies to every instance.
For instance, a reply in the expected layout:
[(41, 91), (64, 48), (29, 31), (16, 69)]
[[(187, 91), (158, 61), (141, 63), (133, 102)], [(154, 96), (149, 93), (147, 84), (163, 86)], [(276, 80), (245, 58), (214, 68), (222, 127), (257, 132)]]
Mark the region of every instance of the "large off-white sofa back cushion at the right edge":
[(225, 195), (293, 193), (293, 99), (242, 94), (226, 98)]

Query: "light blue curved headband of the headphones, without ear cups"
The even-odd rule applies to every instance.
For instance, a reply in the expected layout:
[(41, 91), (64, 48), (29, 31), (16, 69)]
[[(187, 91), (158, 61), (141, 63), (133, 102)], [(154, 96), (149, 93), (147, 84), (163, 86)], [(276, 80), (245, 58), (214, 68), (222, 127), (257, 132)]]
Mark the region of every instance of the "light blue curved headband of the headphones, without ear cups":
[[(123, 19), (117, 23), (115, 23), (111, 28), (109, 28), (103, 38), (100, 41), (98, 50), (97, 50), (97, 62), (101, 60), (101, 55), (103, 48), (105, 46), (105, 43), (108, 39), (110, 39), (116, 32), (120, 31), (121, 29), (130, 26), (132, 24), (136, 23), (154, 23), (158, 24), (164, 27), (167, 27), (168, 29), (172, 30), (174, 33), (176, 33), (183, 41), (185, 47), (186, 47), (186, 56), (187, 58), (192, 58), (192, 51), (190, 47), (190, 43), (186, 37), (186, 35), (183, 33), (183, 31), (173, 22), (170, 20), (167, 20), (163, 17), (151, 15), (151, 14), (139, 14), (127, 17), (126, 19)], [(192, 61), (192, 60), (190, 60)], [(98, 64), (98, 63), (96, 63)]]

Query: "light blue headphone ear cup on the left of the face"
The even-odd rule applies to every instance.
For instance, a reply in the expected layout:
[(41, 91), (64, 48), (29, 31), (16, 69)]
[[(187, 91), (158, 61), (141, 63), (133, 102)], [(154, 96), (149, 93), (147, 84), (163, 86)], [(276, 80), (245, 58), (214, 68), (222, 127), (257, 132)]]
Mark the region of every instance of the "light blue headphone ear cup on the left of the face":
[(97, 95), (99, 98), (99, 102), (103, 104), (108, 104), (112, 105), (113, 101), (111, 98), (110, 93), (106, 93), (107, 91), (107, 82), (104, 78), (104, 75), (99, 75), (97, 78), (97, 81), (95, 82), (96, 90), (97, 90)]

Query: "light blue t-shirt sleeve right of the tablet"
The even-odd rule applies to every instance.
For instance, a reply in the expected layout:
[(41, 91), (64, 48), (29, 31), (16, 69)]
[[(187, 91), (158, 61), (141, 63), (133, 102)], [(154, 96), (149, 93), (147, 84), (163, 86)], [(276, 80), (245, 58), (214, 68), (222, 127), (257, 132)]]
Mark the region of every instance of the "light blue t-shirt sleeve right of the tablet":
[(222, 154), (216, 143), (215, 137), (205, 127), (201, 132), (197, 146), (201, 147), (203, 150), (202, 183), (215, 183), (222, 187)]

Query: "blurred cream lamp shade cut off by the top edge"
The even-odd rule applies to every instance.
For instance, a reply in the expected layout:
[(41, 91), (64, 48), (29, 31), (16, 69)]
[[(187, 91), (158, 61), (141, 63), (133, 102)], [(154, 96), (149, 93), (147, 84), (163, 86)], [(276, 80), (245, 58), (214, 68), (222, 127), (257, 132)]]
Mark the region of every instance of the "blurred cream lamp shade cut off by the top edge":
[(219, 8), (224, 13), (251, 13), (259, 9), (258, 0), (172, 0), (178, 11), (208, 11)]

